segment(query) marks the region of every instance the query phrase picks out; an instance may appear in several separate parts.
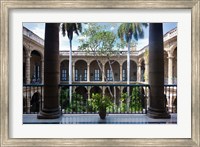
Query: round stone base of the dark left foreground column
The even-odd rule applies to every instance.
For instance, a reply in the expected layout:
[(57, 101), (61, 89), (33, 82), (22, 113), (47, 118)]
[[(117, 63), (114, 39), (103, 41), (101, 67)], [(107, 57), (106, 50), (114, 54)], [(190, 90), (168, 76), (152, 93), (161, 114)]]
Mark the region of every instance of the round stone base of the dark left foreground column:
[(61, 116), (61, 111), (59, 109), (43, 109), (41, 110), (37, 118), (38, 119), (56, 119)]

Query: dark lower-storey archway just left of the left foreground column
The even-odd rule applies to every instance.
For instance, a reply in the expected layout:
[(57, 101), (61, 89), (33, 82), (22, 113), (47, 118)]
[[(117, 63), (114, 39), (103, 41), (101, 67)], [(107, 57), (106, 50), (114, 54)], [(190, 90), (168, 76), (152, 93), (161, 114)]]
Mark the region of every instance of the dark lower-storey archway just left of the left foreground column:
[(31, 97), (31, 112), (39, 112), (40, 107), (40, 99), (41, 95), (39, 92), (35, 92), (33, 96)]

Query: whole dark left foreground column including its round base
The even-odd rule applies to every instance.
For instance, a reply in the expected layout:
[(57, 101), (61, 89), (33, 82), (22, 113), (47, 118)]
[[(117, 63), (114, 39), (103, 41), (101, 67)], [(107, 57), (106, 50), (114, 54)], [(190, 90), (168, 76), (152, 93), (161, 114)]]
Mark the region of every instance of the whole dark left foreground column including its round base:
[(55, 119), (61, 115), (59, 103), (59, 23), (45, 24), (44, 42), (44, 106), (39, 119)]

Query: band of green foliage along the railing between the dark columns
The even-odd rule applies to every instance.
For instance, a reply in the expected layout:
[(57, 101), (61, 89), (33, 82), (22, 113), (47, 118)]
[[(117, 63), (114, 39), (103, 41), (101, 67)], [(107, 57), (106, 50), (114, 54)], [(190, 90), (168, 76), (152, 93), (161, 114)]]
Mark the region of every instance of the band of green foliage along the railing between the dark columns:
[(112, 99), (108, 96), (102, 96), (98, 93), (93, 93), (90, 99), (84, 99), (82, 95), (73, 93), (72, 103), (69, 104), (69, 89), (61, 89), (60, 92), (60, 104), (62, 109), (66, 112), (98, 112), (102, 109), (106, 109), (107, 112), (112, 112), (113, 108), (117, 108), (118, 112), (141, 112), (144, 105), (144, 94), (141, 88), (133, 87), (130, 94), (130, 105), (127, 110), (127, 93), (122, 93), (119, 99), (119, 106), (115, 106)]

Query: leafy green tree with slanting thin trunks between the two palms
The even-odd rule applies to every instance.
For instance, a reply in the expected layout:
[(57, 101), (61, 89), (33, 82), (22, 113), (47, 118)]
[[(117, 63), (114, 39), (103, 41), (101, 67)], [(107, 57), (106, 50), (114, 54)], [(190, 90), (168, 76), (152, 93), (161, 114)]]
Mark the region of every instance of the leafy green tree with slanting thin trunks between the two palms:
[[(96, 23), (89, 23), (88, 28), (83, 31), (82, 35), (84, 36), (84, 39), (80, 40), (81, 45), (79, 50), (92, 53), (93, 56), (96, 56), (95, 59), (103, 78), (105, 81), (108, 81), (104, 69), (99, 61), (100, 56), (106, 57), (112, 74), (112, 80), (115, 81), (112, 68), (112, 64), (114, 64), (115, 61), (112, 61), (110, 57), (114, 54), (118, 54), (119, 48), (123, 46), (123, 44), (117, 43), (117, 35), (114, 32), (109, 31), (106, 26), (100, 26)], [(116, 90), (114, 90), (113, 94), (110, 87), (108, 87), (108, 89), (110, 95), (114, 97), (114, 103), (116, 103)]]

